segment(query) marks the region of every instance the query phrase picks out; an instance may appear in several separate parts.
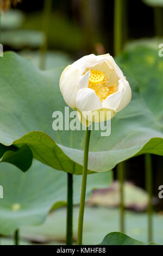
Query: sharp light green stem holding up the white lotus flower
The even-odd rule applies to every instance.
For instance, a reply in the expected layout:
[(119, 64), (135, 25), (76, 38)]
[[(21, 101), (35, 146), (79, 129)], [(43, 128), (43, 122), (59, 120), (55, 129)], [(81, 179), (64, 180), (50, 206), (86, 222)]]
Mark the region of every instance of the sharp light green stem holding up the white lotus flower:
[(88, 162), (88, 157), (89, 157), (90, 135), (91, 135), (91, 130), (89, 130), (89, 127), (86, 127), (85, 147), (84, 147), (84, 163), (83, 163), (83, 178), (82, 178), (82, 190), (81, 190), (81, 196), (80, 196), (77, 245), (82, 245), (82, 240), (83, 240), (83, 219), (84, 219), (84, 206), (85, 206), (85, 193), (86, 193), (86, 180), (87, 180), (87, 162)]

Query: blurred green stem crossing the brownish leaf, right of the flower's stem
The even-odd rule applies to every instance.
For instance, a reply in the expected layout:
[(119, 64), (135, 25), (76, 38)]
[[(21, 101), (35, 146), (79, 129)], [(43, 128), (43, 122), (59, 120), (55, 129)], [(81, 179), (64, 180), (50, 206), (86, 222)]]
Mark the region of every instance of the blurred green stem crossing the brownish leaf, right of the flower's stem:
[(120, 184), (120, 231), (122, 233), (124, 233), (124, 168), (124, 162), (117, 164), (117, 177)]

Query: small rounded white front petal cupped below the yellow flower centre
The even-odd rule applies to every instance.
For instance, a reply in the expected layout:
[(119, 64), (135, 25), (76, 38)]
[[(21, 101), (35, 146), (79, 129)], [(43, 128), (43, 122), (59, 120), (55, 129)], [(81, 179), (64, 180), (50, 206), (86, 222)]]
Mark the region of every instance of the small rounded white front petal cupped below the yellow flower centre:
[(78, 90), (75, 101), (75, 108), (79, 111), (92, 111), (102, 107), (101, 100), (95, 91), (90, 88)]

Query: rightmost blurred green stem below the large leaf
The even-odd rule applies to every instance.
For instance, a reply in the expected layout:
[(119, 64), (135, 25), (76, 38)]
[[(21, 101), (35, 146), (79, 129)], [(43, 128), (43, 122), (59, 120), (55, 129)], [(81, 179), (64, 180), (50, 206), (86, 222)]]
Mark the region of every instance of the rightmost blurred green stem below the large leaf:
[(152, 157), (145, 155), (145, 172), (146, 172), (146, 190), (148, 193), (148, 241), (153, 240), (153, 223), (152, 223)]

